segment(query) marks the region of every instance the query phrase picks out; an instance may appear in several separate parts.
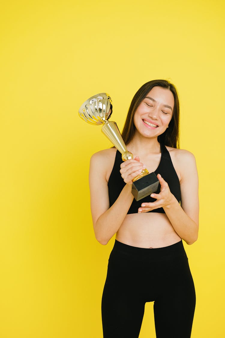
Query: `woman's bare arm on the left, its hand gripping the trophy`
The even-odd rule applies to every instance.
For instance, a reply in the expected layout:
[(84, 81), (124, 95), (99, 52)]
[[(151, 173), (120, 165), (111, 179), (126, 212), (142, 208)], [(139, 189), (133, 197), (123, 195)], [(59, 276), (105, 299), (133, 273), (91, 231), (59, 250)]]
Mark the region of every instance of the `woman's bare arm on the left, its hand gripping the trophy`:
[[(94, 233), (97, 241), (103, 245), (106, 245), (118, 231), (134, 198), (131, 194), (132, 182), (130, 180), (129, 184), (126, 184), (122, 189), (115, 203), (109, 207), (108, 182), (106, 179), (107, 169), (112, 164), (112, 153), (109, 150), (103, 150), (92, 155), (89, 170), (90, 203)], [(126, 165), (126, 177), (133, 178), (142, 170), (143, 166), (138, 161), (129, 161), (135, 162), (135, 164)]]

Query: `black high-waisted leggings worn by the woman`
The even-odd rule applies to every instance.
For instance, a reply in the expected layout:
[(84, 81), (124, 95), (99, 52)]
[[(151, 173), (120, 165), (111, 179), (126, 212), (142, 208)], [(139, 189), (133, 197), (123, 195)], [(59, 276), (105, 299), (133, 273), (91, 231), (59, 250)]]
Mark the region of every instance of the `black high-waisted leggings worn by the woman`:
[(115, 241), (102, 297), (104, 338), (138, 338), (154, 301), (157, 338), (190, 338), (195, 287), (182, 241), (146, 249)]

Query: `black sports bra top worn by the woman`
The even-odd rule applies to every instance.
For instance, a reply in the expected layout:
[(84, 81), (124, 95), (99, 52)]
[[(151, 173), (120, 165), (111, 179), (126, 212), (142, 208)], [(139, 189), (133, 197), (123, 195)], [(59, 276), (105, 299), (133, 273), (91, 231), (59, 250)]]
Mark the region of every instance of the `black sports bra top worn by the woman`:
[[(165, 145), (160, 144), (161, 147), (161, 160), (159, 163), (158, 168), (154, 171), (154, 173), (161, 174), (161, 176), (165, 179), (168, 183), (171, 193), (175, 196), (175, 198), (180, 202), (180, 182), (177, 176), (177, 173), (173, 167), (171, 157), (169, 151), (166, 149)], [(110, 207), (118, 198), (121, 190), (125, 186), (125, 182), (121, 177), (120, 174), (120, 164), (122, 163), (121, 153), (117, 150), (114, 166), (112, 172), (109, 177), (108, 188), (109, 188), (109, 204)], [(158, 190), (156, 191), (157, 194), (160, 193), (160, 184)], [(138, 212), (138, 208), (141, 207), (143, 202), (154, 202), (156, 199), (150, 197), (150, 195), (140, 199), (139, 201), (133, 200), (130, 209), (128, 210), (128, 214), (136, 214)], [(154, 209), (148, 212), (158, 212), (158, 213), (165, 213), (163, 208)]]

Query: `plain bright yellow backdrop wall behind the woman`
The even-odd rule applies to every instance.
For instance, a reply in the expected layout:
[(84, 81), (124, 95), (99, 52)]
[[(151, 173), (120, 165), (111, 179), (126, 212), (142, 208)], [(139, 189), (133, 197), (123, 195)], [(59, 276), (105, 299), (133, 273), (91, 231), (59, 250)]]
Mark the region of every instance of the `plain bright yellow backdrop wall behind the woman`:
[[(185, 244), (192, 338), (224, 337), (224, 1), (4, 2), (0, 336), (102, 337), (114, 240), (94, 238), (88, 169), (111, 145), (78, 108), (110, 93), (121, 130), (138, 88), (163, 78), (178, 88), (181, 148), (195, 154), (200, 178), (199, 239)], [(152, 306), (140, 338), (155, 337)]]

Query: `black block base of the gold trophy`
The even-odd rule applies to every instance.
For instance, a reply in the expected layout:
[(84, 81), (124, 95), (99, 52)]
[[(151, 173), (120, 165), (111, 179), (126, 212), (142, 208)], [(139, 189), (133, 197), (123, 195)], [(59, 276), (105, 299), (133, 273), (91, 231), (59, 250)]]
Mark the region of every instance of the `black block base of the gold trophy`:
[(132, 184), (132, 194), (136, 201), (152, 194), (157, 191), (159, 186), (159, 180), (154, 172), (139, 178)]

